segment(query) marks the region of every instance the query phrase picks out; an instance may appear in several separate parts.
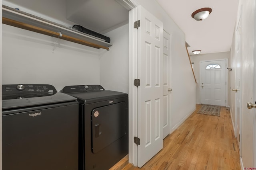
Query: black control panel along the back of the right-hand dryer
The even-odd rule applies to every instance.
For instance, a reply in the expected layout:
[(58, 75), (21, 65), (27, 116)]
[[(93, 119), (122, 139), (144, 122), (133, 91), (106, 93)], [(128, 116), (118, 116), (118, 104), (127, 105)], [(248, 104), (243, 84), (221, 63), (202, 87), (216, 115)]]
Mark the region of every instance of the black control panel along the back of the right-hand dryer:
[(78, 93), (78, 92), (99, 92), (105, 89), (100, 85), (78, 85), (66, 86), (60, 92), (62, 93)]

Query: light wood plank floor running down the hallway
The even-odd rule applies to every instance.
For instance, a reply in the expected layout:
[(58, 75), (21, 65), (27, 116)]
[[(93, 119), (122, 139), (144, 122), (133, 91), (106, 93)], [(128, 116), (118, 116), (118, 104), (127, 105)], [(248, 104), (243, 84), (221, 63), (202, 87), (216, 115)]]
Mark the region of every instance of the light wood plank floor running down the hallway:
[(110, 170), (240, 170), (239, 151), (229, 109), (220, 117), (197, 114), (201, 105), (178, 129), (164, 139), (164, 148), (142, 168), (128, 156)]

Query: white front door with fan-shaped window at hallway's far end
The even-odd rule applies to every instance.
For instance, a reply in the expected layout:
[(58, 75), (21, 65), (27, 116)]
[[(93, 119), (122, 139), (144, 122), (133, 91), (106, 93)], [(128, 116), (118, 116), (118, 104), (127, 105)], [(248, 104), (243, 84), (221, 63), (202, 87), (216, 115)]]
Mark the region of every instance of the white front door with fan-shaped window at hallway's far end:
[(226, 106), (226, 60), (201, 62), (201, 104)]

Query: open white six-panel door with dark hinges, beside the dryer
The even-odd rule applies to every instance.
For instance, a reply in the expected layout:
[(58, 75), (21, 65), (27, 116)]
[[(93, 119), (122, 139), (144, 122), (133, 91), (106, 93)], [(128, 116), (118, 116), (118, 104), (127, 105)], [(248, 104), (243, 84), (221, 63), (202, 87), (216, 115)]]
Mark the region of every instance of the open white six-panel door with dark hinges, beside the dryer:
[(163, 23), (138, 6), (138, 167), (163, 148)]

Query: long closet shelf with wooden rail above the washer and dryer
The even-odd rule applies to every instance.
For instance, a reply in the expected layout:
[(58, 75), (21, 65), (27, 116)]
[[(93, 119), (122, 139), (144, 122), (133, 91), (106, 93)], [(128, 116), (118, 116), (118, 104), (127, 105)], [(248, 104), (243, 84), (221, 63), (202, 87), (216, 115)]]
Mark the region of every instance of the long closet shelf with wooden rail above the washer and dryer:
[(34, 31), (44, 35), (59, 37), (67, 41), (86, 45), (96, 49), (106, 49), (112, 45), (100, 38), (92, 37), (80, 31), (70, 29), (63, 25), (44, 20), (31, 14), (7, 7), (3, 5), (2, 23), (19, 27), (29, 31)]

